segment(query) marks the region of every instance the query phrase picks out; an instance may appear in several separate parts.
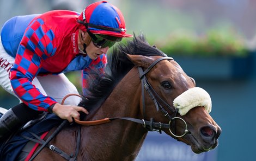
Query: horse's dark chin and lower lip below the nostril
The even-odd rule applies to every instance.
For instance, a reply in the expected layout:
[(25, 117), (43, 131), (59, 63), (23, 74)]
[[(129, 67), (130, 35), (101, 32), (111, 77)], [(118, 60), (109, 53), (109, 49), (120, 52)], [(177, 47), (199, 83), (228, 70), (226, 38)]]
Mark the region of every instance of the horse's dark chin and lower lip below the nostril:
[(215, 140), (214, 144), (201, 143), (202, 141), (198, 141), (192, 134), (186, 134), (185, 139), (189, 142), (188, 144), (191, 146), (191, 150), (197, 154), (215, 149), (218, 145), (218, 140)]

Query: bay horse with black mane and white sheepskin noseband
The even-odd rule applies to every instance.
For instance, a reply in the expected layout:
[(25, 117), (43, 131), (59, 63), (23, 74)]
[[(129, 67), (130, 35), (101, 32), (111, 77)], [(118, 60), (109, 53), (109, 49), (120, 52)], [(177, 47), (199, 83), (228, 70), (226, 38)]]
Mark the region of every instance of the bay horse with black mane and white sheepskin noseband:
[[(196, 87), (171, 57), (150, 46), (144, 35), (114, 48), (105, 74), (93, 71), (88, 94), (78, 105), (89, 111), (81, 120), (112, 119), (106, 124), (64, 127), (51, 140), (54, 147), (74, 154), (79, 145), (76, 160), (135, 160), (148, 131), (155, 130), (190, 145), (194, 153), (217, 146), (221, 128), (209, 115), (208, 93)], [(65, 159), (44, 148), (34, 160)]]

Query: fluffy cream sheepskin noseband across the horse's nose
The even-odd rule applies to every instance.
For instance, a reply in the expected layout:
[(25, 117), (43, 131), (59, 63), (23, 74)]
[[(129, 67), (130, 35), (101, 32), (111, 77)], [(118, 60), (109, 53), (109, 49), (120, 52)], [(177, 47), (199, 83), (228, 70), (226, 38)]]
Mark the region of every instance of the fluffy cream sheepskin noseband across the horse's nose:
[(207, 112), (211, 112), (211, 97), (200, 87), (190, 88), (177, 96), (173, 101), (173, 106), (178, 108), (180, 115), (185, 115), (192, 108), (204, 106)]

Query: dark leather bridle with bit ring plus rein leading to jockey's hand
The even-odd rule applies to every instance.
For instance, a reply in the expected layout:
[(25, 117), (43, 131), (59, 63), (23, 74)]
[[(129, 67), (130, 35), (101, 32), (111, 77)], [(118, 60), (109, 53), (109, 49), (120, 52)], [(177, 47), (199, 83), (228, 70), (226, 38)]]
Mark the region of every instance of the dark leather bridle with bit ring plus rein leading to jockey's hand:
[[(169, 123), (166, 124), (166, 123), (160, 123), (160, 122), (154, 122), (154, 119), (153, 118), (150, 118), (150, 121), (147, 121), (147, 120), (144, 120), (144, 119), (136, 119), (136, 118), (129, 118), (129, 117), (121, 117), (121, 118), (105, 118), (105, 119), (101, 119), (101, 120), (94, 120), (94, 121), (80, 121), (80, 120), (77, 120), (77, 119), (74, 119), (75, 122), (77, 124), (80, 124), (80, 125), (86, 125), (86, 126), (92, 126), (92, 125), (100, 125), (100, 124), (105, 124), (105, 123), (109, 123), (111, 122), (112, 120), (116, 120), (116, 119), (122, 119), (122, 120), (129, 120), (129, 121), (133, 121), (135, 123), (138, 123), (138, 124), (142, 124), (144, 128), (146, 128), (148, 131), (156, 131), (158, 130), (160, 133), (161, 133), (161, 129), (162, 128), (168, 128), (170, 133), (176, 137), (176, 138), (179, 138), (179, 137), (183, 137), (185, 136), (185, 134), (187, 134), (189, 131), (187, 130), (187, 123), (184, 119), (180, 118), (180, 117), (176, 117), (176, 114), (178, 113), (178, 110), (174, 110), (173, 107), (171, 107), (169, 104), (167, 104), (166, 101), (164, 101), (156, 92), (155, 90), (153, 89), (153, 87), (150, 85), (150, 83), (148, 82), (148, 79), (146, 78), (146, 74), (150, 71), (151, 68), (153, 68), (156, 63), (162, 61), (162, 60), (173, 60), (172, 57), (161, 57), (157, 60), (155, 60), (146, 70), (143, 71), (143, 69), (141, 67), (138, 67), (138, 70), (139, 70), (139, 77), (141, 79), (141, 82), (142, 82), (142, 104), (143, 104), (143, 117), (145, 119), (146, 117), (146, 114), (145, 114), (145, 94), (144, 94), (144, 90), (147, 91), (150, 95), (150, 98), (153, 100), (154, 104), (155, 104), (155, 107), (156, 107), (156, 110), (159, 111), (159, 109), (161, 110), (161, 112), (164, 114), (165, 117), (168, 118), (169, 120)], [(77, 95), (77, 96), (80, 96), (78, 94), (69, 94), (69, 95), (66, 95), (64, 98), (63, 98), (63, 101), (65, 101), (66, 98), (68, 98), (68, 96), (71, 96), (71, 95)], [(168, 110), (172, 111), (174, 117), (172, 117), (167, 110), (165, 110), (161, 104), (159, 103), (159, 101), (162, 102), (162, 104), (164, 104)], [(184, 133), (181, 134), (180, 136), (177, 136), (174, 134), (174, 132), (172, 132), (170, 130), (170, 128), (172, 127), (172, 125), (174, 125), (174, 130), (175, 130), (175, 120), (176, 119), (180, 119), (181, 121), (184, 122), (184, 125), (185, 125), (185, 130), (184, 130)]]

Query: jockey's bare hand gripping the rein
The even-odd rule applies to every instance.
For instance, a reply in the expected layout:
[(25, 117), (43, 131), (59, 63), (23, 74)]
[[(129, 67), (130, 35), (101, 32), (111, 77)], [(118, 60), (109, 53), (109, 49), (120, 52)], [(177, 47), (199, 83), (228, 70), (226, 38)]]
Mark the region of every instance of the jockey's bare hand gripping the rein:
[(70, 123), (73, 121), (72, 118), (80, 119), (80, 113), (78, 111), (89, 114), (86, 108), (80, 106), (60, 105), (57, 103), (52, 108), (53, 113), (62, 119), (68, 120)]

